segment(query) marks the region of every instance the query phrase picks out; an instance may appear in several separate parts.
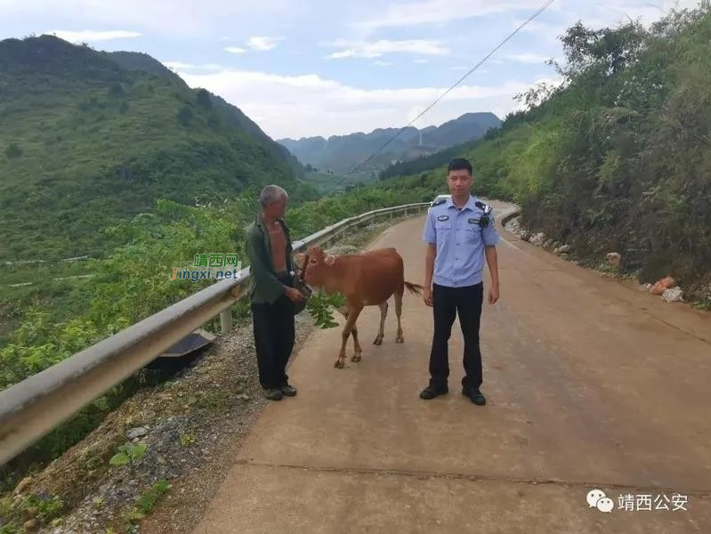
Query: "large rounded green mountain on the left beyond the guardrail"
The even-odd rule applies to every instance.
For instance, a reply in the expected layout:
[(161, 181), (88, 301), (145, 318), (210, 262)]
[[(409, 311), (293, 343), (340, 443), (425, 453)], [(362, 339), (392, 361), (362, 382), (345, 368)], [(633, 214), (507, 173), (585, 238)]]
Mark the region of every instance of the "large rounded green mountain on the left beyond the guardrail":
[(239, 109), (139, 53), (54, 36), (0, 41), (0, 261), (102, 255), (106, 227), (277, 182), (301, 168)]

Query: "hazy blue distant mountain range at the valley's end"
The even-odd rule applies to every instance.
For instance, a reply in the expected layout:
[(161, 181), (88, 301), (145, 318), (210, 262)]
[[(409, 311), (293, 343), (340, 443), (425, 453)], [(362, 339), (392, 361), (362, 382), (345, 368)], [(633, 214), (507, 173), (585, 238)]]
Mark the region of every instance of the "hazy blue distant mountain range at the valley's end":
[[(497, 128), (501, 120), (493, 113), (465, 113), (440, 126), (422, 130), (408, 127), (363, 170), (381, 170), (394, 161), (407, 161), (433, 154), (448, 147), (481, 138), (489, 128)], [(359, 132), (349, 135), (303, 137), (299, 140), (279, 139), (299, 161), (319, 171), (343, 173), (366, 161), (371, 154), (388, 142), (400, 128), (378, 128), (370, 134)]]

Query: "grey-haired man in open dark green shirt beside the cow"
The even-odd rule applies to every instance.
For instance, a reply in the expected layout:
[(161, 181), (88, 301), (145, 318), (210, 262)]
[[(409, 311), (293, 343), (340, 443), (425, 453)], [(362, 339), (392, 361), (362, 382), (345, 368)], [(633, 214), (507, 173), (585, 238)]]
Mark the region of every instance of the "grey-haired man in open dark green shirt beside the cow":
[(262, 211), (246, 229), (246, 255), (251, 284), (249, 301), (255, 331), (259, 382), (264, 396), (281, 401), (293, 397), (288, 383), (287, 362), (294, 349), (294, 303), (303, 299), (295, 289), (291, 238), (284, 213), (287, 191), (268, 185), (259, 195)]

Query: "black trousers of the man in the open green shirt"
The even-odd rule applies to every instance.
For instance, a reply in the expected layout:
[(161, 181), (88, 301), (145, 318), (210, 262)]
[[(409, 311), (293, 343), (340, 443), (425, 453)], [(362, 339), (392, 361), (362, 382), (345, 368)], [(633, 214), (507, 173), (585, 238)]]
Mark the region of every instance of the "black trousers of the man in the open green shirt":
[[(289, 287), (289, 275), (278, 276)], [(273, 304), (252, 304), (252, 324), (259, 367), (259, 383), (264, 389), (288, 384), (287, 362), (294, 349), (294, 303), (282, 295)]]

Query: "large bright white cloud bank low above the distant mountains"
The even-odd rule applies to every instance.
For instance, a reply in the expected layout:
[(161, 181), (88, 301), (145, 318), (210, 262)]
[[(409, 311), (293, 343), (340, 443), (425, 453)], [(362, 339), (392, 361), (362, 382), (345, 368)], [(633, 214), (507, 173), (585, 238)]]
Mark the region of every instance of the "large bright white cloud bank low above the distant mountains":
[[(384, 126), (402, 126), (438, 98), (446, 86), (365, 89), (315, 74), (283, 76), (266, 72), (222, 69), (179, 72), (193, 87), (205, 87), (258, 119), (274, 139), (351, 134)], [(468, 111), (493, 111), (499, 117), (518, 109), (513, 96), (537, 81), (501, 85), (459, 85), (418, 123), (441, 124)], [(546, 79), (549, 83), (555, 80)], [(318, 117), (318, 120), (314, 120)]]

